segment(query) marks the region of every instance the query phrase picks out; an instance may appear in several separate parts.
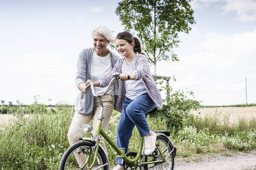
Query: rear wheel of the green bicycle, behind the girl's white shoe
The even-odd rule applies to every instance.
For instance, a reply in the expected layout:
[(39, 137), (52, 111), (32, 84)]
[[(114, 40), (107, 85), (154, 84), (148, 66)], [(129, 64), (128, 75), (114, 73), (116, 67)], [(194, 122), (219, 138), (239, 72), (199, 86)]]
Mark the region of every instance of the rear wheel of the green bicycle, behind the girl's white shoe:
[(147, 161), (151, 160), (160, 160), (159, 149), (161, 153), (164, 154), (164, 157), (167, 157), (167, 161), (158, 163), (158, 164), (149, 164), (144, 166), (144, 170), (148, 169), (164, 169), (164, 170), (173, 170), (174, 167), (174, 157), (175, 157), (175, 149), (167, 136), (162, 134), (157, 134), (156, 138), (156, 149), (152, 154), (146, 156)]

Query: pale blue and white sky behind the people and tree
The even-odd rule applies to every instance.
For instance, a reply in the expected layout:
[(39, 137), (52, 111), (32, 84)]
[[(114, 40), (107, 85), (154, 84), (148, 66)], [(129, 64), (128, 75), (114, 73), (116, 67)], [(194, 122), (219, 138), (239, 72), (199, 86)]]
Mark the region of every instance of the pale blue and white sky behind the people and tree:
[[(73, 104), (78, 53), (92, 47), (92, 30), (124, 30), (118, 2), (0, 0), (0, 100)], [(246, 104), (247, 83), (247, 102), (256, 104), (256, 1), (191, 6), (196, 23), (173, 49), (180, 61), (159, 62), (157, 74), (174, 75), (173, 90), (191, 90), (205, 106)]]

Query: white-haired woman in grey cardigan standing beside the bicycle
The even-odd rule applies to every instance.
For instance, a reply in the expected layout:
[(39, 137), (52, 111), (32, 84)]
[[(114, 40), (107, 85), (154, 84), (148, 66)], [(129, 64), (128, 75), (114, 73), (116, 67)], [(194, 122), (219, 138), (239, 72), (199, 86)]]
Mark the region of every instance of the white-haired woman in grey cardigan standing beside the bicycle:
[[(107, 75), (114, 67), (114, 64), (119, 59), (116, 54), (111, 52), (107, 46), (109, 42), (114, 43), (115, 38), (112, 36), (111, 32), (107, 27), (100, 26), (94, 29), (92, 32), (92, 39), (94, 47), (83, 49), (78, 56), (77, 62), (77, 72), (76, 72), (76, 86), (81, 90), (81, 96), (78, 97), (75, 105), (75, 114), (70, 125), (69, 132), (67, 134), (70, 141), (70, 145), (77, 143), (79, 138), (83, 133), (83, 124), (89, 123), (94, 119), (93, 130), (96, 130), (96, 123), (98, 115), (100, 114), (100, 102), (98, 97), (92, 95), (92, 91), (88, 92), (85, 90), (85, 82), (87, 80), (96, 81), (100, 77)], [(100, 93), (105, 91), (105, 88), (96, 87), (95, 92)], [(87, 92), (87, 93), (86, 93)], [(86, 94), (85, 94), (86, 93)], [(102, 97), (104, 105), (104, 116), (102, 128), (106, 129), (109, 119), (111, 117), (112, 111), (114, 109), (114, 104), (118, 98), (118, 84), (114, 84), (109, 90), (107, 95)], [(93, 131), (95, 132), (95, 131)], [(105, 143), (100, 142), (107, 153)], [(75, 155), (76, 156), (76, 155)], [(78, 157), (76, 156), (78, 160)], [(83, 161), (78, 160), (78, 165), (83, 165)]]

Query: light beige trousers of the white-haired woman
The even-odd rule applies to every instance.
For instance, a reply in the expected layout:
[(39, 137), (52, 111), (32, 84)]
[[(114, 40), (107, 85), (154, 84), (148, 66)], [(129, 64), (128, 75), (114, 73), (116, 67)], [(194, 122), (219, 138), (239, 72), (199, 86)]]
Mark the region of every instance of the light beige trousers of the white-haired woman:
[[(103, 119), (101, 127), (103, 128), (103, 130), (106, 130), (111, 114), (114, 110), (114, 96), (105, 95), (101, 99), (103, 101), (103, 106), (104, 106), (103, 114), (105, 117), (105, 119)], [(89, 122), (92, 121), (92, 119), (93, 119), (92, 133), (95, 134), (99, 114), (100, 114), (100, 101), (98, 97), (94, 97), (94, 110), (92, 114), (85, 115), (85, 114), (80, 114), (78, 112), (75, 112), (74, 117), (72, 119), (72, 123), (70, 125), (70, 129), (67, 134), (70, 145), (73, 145), (74, 143), (79, 142), (79, 138), (81, 138), (83, 135), (83, 124), (89, 124)], [(103, 138), (101, 138), (100, 140), (100, 145), (103, 147), (105, 153), (107, 154), (107, 148), (105, 146)], [(78, 153), (76, 153), (76, 151), (74, 151), (74, 155), (76, 157), (78, 165), (81, 167), (85, 162), (85, 155), (80, 154), (78, 156)]]

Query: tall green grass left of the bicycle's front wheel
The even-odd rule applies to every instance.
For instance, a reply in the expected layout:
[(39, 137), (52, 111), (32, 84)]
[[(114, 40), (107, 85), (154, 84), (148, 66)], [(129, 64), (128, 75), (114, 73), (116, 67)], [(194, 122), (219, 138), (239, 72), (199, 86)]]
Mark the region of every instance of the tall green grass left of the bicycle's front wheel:
[(0, 127), (0, 169), (58, 169), (68, 147), (70, 110), (58, 114), (19, 114), (16, 121)]

